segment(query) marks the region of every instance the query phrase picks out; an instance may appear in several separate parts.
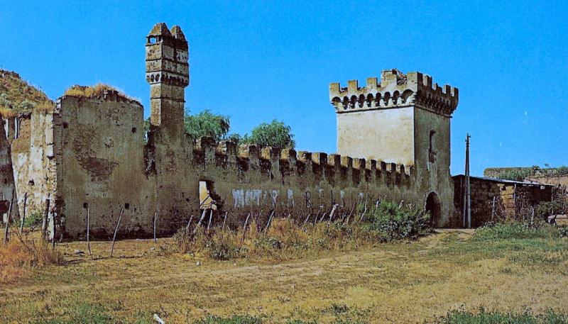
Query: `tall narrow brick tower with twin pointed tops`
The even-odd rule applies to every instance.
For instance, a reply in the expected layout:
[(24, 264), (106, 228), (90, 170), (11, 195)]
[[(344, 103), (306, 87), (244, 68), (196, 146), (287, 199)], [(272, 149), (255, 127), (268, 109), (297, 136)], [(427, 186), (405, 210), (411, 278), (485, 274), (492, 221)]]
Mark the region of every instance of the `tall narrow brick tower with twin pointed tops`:
[(146, 38), (146, 81), (150, 84), (150, 122), (165, 140), (183, 135), (185, 87), (190, 84), (188, 57), (182, 29), (155, 24)]

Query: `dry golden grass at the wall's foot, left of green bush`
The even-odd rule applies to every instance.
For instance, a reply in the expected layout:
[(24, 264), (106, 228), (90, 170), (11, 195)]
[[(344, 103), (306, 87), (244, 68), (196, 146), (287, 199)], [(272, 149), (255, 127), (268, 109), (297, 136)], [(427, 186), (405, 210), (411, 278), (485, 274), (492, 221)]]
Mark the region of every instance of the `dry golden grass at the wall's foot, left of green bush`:
[(199, 228), (195, 238), (176, 235), (180, 252), (203, 255), (210, 259), (269, 259), (281, 261), (315, 254), (321, 250), (356, 250), (376, 245), (377, 233), (359, 225), (327, 222), (297, 225), (290, 218), (275, 218), (266, 230), (256, 220), (247, 225), (246, 235), (239, 230)]

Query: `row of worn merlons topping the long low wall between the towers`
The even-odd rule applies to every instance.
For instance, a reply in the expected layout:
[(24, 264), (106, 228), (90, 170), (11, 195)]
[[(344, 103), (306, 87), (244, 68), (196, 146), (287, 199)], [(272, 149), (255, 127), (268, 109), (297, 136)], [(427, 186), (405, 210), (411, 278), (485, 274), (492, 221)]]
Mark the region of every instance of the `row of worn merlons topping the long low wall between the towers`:
[(237, 147), (229, 140), (215, 143), (207, 137), (196, 140), (193, 152), (195, 167), (222, 168), (228, 172), (239, 168), (235, 171), (239, 171), (241, 177), (245, 177), (244, 172), (261, 172), (271, 181), (314, 179), (316, 184), (324, 180), (338, 186), (362, 183), (408, 186), (415, 177), (414, 167), (403, 164), (257, 145)]

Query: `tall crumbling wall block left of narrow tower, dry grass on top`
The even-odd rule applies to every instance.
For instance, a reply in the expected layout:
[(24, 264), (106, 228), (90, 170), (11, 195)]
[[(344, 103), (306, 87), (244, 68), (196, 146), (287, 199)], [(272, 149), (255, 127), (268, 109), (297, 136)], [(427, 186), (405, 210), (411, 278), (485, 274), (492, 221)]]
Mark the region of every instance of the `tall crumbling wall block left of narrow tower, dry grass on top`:
[(60, 233), (82, 237), (88, 210), (92, 235), (106, 238), (123, 208), (121, 234), (149, 233), (155, 189), (144, 171), (141, 104), (106, 91), (93, 99), (63, 96), (57, 111)]

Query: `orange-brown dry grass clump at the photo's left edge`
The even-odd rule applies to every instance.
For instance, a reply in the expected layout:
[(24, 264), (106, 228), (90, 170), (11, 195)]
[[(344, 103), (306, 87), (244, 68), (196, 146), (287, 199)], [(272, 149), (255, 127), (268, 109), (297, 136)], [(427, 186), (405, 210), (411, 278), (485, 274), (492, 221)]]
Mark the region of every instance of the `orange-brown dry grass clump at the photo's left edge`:
[(13, 238), (0, 243), (0, 283), (13, 281), (28, 270), (61, 262), (60, 252), (47, 242)]

